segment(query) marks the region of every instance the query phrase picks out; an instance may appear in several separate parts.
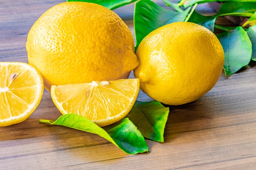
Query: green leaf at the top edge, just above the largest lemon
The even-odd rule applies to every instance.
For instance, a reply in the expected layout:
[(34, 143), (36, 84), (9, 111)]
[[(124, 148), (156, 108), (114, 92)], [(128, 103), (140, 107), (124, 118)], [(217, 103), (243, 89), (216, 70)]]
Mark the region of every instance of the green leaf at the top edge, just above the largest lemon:
[(118, 7), (122, 7), (126, 4), (130, 4), (137, 0), (67, 0), (67, 2), (91, 2), (94, 4), (102, 5), (108, 9), (116, 9)]

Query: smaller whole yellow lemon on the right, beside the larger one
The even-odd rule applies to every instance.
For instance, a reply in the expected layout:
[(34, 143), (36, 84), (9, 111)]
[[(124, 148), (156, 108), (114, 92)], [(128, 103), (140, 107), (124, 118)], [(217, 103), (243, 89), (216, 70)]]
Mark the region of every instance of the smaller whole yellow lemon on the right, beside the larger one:
[(175, 22), (149, 33), (139, 44), (135, 77), (141, 90), (168, 105), (193, 102), (218, 81), (224, 51), (210, 30)]

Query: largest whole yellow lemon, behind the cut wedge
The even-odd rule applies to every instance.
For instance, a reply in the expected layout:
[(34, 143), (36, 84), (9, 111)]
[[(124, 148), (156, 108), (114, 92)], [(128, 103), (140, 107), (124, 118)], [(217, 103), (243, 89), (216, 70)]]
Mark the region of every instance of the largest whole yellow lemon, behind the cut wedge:
[(123, 20), (87, 2), (64, 2), (46, 11), (29, 31), (26, 48), (48, 91), (51, 85), (125, 79), (139, 64)]

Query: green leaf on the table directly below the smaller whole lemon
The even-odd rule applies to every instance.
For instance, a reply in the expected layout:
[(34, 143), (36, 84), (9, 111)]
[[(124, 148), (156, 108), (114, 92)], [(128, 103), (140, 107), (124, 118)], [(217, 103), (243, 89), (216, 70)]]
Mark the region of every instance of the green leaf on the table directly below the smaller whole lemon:
[(126, 116), (137, 126), (142, 135), (153, 141), (164, 141), (164, 127), (169, 108), (160, 102), (136, 101), (130, 113)]

